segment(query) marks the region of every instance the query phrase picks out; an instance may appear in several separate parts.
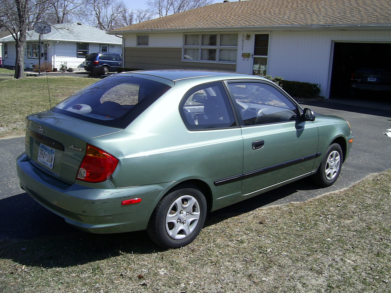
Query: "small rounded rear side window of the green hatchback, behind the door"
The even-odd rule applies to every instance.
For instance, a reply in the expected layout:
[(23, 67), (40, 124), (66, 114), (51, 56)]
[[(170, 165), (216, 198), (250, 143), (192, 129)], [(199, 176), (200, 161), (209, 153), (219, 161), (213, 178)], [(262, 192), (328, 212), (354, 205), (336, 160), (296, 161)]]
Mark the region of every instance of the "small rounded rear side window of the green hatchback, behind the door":
[(190, 90), (179, 107), (190, 130), (236, 126), (231, 104), (221, 83), (198, 86)]

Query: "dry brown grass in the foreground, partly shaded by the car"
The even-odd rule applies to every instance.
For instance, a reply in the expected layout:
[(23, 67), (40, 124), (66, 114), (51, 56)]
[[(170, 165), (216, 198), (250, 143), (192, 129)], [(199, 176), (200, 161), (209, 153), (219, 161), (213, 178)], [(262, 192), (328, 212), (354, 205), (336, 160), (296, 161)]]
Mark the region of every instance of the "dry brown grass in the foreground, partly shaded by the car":
[(144, 232), (4, 240), (0, 291), (388, 293), (390, 195), (389, 171), (304, 203), (242, 202), (166, 251)]

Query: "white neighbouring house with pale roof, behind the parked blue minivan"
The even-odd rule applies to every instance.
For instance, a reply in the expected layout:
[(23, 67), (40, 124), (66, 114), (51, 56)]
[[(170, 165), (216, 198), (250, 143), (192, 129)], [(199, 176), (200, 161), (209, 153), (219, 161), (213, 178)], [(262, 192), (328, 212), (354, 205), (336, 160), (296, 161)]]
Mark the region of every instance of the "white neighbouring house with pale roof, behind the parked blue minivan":
[[(14, 68), (16, 50), (12, 36), (0, 39), (3, 44), (2, 58), (5, 67)], [(38, 64), (39, 34), (27, 32), (24, 68), (33, 68)], [(61, 23), (52, 25), (51, 32), (41, 37), (41, 64), (50, 63), (59, 68), (66, 62), (68, 68), (83, 68), (86, 55), (93, 52), (122, 53), (121, 39), (106, 34), (104, 30), (82, 23)]]

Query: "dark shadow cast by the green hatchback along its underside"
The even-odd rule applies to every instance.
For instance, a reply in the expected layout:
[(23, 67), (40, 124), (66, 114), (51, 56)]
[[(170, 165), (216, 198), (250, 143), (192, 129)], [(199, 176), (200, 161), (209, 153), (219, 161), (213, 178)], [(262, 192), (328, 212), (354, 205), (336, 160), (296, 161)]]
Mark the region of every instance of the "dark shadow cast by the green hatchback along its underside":
[[(300, 180), (208, 214), (206, 226), (247, 213), (298, 190), (317, 189)], [(26, 193), (0, 200), (0, 257), (22, 265), (67, 267), (115, 257), (123, 253), (164, 251), (145, 231), (90, 234), (67, 225)]]

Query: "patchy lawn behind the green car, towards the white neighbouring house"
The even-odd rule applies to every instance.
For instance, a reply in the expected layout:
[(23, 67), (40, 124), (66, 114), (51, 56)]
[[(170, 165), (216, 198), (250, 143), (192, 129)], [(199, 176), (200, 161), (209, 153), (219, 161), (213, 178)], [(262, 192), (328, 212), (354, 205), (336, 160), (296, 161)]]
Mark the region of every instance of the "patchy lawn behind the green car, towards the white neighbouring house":
[[(7, 73), (8, 72), (8, 73)], [(0, 68), (0, 137), (23, 135), (28, 114), (50, 109), (79, 89), (97, 81), (88, 77), (46, 76), (13, 79)]]

